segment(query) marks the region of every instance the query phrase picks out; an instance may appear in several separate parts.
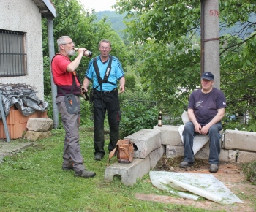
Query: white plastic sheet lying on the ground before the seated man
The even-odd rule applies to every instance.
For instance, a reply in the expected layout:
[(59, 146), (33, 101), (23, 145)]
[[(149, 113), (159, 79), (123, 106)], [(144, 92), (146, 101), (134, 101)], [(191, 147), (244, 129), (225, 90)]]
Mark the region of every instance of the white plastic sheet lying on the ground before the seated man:
[[(149, 176), (151, 183), (157, 189), (191, 200), (197, 200), (198, 196), (201, 196), (223, 205), (229, 205), (235, 202), (244, 203), (211, 174), (151, 171)], [(193, 194), (182, 191), (192, 192)]]

